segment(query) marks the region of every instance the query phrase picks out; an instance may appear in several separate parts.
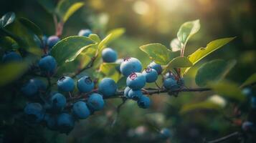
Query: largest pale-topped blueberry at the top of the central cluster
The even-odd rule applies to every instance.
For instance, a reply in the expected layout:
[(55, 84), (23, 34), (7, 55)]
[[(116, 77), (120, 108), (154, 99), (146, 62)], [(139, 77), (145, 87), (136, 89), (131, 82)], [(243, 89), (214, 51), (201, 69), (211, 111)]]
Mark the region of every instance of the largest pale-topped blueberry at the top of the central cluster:
[(125, 58), (120, 64), (120, 71), (125, 77), (128, 77), (133, 72), (141, 72), (141, 69), (141, 61), (136, 58)]

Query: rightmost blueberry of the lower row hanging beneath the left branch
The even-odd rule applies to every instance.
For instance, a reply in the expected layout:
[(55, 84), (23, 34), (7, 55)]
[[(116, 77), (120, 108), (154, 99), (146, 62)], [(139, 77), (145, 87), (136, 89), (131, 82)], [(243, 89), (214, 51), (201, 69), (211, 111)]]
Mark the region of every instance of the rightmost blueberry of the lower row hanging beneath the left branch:
[(88, 107), (90, 107), (90, 109), (93, 109), (93, 111), (98, 111), (103, 109), (104, 107), (103, 96), (96, 93), (91, 94), (87, 101), (87, 105)]

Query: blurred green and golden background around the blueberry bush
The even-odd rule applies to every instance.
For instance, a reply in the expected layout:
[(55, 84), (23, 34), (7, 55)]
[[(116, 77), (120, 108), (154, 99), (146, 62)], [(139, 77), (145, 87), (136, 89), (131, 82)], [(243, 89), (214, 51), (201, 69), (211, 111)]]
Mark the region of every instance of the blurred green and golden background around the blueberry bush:
[[(181, 24), (200, 19), (201, 29), (187, 44), (185, 54), (191, 54), (214, 39), (237, 36), (202, 62), (237, 59), (237, 65), (227, 79), (241, 84), (256, 71), (255, 7), (254, 0), (90, 0), (85, 1), (85, 6), (67, 21), (62, 38), (77, 35), (80, 29), (85, 28), (103, 36), (110, 29), (123, 27), (125, 36), (113, 42), (111, 47), (118, 51), (120, 58), (136, 57), (146, 67), (150, 59), (138, 49), (139, 46), (158, 42), (169, 47)], [(0, 15), (7, 11), (34, 21), (48, 36), (54, 34), (52, 16), (37, 1), (1, 0)], [(194, 75), (202, 62), (186, 75), (187, 87), (196, 87)], [(108, 101), (104, 111), (81, 120), (69, 135), (40, 126), (24, 127), (24, 124), (13, 126), (6, 132), (25, 142), (166, 142), (151, 138), (158, 134), (159, 129), (167, 127), (174, 134), (171, 142), (202, 142), (203, 139), (222, 137), (240, 129), (224, 118), (231, 116), (232, 104), (227, 103), (221, 111), (196, 110), (180, 114), (184, 104), (204, 101), (213, 94), (181, 93), (178, 98), (152, 96), (151, 109), (139, 109), (135, 102), (128, 102), (122, 107), (114, 127), (111, 124), (120, 99)], [(2, 131), (1, 135), (5, 132)]]

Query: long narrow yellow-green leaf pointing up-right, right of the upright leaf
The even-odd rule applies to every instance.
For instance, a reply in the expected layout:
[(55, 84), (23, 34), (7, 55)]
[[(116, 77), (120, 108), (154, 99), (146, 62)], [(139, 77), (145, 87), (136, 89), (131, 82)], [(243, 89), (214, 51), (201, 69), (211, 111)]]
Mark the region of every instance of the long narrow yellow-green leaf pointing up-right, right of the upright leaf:
[[(209, 44), (207, 44), (207, 47), (196, 50), (193, 54), (189, 55), (188, 58), (194, 65), (198, 61), (203, 59), (205, 56), (207, 56), (208, 54), (211, 54), (213, 51), (229, 43), (229, 41), (232, 41), (234, 38), (235, 37), (230, 37), (230, 38), (217, 39), (217, 40), (211, 41), (209, 42)], [(189, 69), (190, 68), (186, 68), (184, 70), (184, 74), (186, 74), (186, 72), (189, 71)]]

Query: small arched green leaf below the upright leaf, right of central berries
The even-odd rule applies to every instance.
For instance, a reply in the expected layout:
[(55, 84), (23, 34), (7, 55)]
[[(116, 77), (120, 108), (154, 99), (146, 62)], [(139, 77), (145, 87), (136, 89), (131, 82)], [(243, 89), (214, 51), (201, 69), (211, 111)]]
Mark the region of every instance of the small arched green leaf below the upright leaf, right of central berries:
[(186, 56), (179, 56), (172, 59), (169, 62), (169, 64), (167, 64), (166, 68), (163, 69), (163, 74), (174, 68), (189, 67), (192, 65), (193, 64), (191, 63), (191, 61), (189, 61), (189, 59)]

